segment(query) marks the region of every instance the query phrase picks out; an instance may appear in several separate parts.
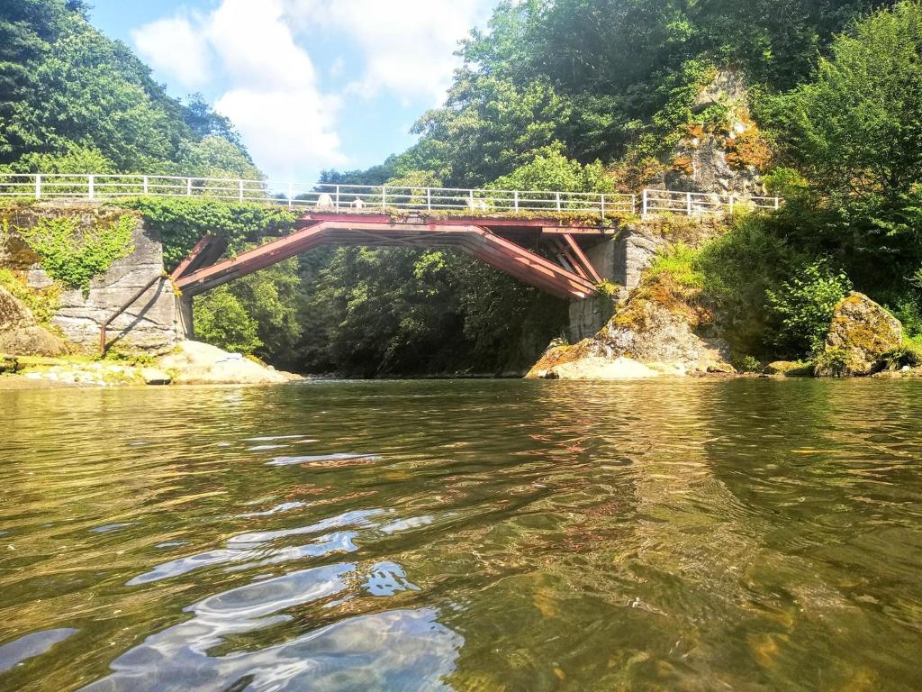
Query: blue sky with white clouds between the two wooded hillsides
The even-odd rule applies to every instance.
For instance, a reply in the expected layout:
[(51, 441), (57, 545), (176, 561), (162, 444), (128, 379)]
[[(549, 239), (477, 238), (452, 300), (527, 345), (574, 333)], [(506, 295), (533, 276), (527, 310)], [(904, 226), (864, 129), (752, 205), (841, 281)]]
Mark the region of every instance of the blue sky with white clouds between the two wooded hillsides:
[(171, 96), (201, 92), (270, 180), (368, 168), (441, 105), (457, 42), (498, 0), (93, 0)]

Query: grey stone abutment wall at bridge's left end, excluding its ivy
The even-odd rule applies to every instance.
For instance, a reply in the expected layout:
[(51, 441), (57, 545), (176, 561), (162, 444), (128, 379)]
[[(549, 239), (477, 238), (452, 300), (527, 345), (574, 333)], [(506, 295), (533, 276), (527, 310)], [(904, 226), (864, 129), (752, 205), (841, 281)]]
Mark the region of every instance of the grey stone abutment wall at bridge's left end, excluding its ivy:
[[(11, 223), (10, 233), (0, 250), (0, 267), (13, 269), (26, 279), (32, 289), (51, 285), (53, 280), (41, 268), (37, 261), (39, 258), (30, 253), (14, 229), (17, 224), (34, 222), (41, 215), (65, 213), (75, 214), (89, 224), (102, 214), (118, 212), (87, 205), (30, 207)], [(62, 292), (60, 305), (52, 318), (52, 327), (59, 330), (77, 351), (97, 352), (100, 348), (102, 323), (155, 278), (158, 280), (114, 319), (108, 328), (108, 342), (115, 349), (164, 353), (170, 352), (181, 338), (178, 336), (182, 331), (176, 296), (171, 281), (163, 278), (163, 247), (160, 238), (145, 229), (143, 221), (139, 219), (134, 229), (133, 244), (134, 252), (115, 261), (104, 275), (93, 279), (86, 295), (80, 289)]]

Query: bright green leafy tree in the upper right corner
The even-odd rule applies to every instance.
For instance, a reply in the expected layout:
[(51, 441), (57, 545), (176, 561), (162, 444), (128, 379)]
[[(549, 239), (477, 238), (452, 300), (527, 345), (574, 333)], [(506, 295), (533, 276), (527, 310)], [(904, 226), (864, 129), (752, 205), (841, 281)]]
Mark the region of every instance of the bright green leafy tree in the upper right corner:
[(900, 2), (833, 42), (782, 101), (788, 144), (823, 192), (893, 197), (922, 179), (922, 6)]

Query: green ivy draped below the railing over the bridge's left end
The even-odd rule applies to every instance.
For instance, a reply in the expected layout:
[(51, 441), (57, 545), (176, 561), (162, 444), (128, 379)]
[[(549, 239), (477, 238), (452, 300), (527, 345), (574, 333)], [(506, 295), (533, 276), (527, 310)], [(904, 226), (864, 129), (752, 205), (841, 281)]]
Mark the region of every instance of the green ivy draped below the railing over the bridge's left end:
[(137, 209), (145, 225), (163, 240), (163, 262), (168, 271), (183, 261), (206, 233), (227, 240), (239, 253), (266, 233), (288, 233), (297, 215), (281, 206), (227, 202), (202, 197), (137, 197), (119, 200), (119, 207)]

